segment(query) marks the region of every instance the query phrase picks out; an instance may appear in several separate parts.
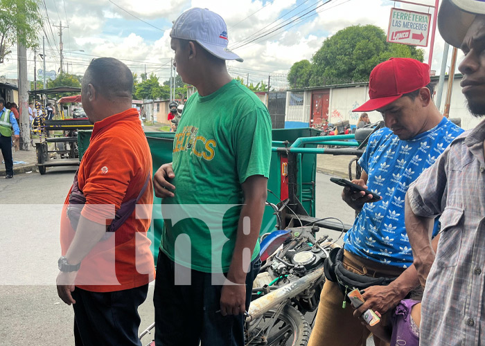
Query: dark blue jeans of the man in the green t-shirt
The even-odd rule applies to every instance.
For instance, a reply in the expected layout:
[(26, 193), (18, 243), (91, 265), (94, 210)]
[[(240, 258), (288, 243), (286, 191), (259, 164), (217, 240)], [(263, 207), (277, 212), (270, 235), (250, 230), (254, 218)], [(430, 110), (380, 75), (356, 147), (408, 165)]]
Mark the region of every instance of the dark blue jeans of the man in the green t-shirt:
[[(212, 284), (211, 273), (191, 271), (191, 285), (175, 284), (175, 263), (162, 251), (155, 277), (155, 345), (243, 346), (244, 316), (222, 316), (221, 285)], [(251, 262), (246, 275), (246, 310), (261, 260)]]

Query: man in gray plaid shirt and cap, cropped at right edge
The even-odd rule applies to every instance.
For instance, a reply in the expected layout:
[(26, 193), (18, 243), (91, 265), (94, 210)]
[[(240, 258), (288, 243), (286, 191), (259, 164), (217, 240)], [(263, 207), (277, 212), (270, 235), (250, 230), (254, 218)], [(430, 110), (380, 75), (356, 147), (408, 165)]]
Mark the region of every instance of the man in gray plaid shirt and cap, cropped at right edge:
[[(459, 71), (468, 108), (485, 116), (485, 2), (443, 0), (443, 38), (465, 54)], [(409, 187), (406, 229), (425, 286), (420, 345), (485, 343), (485, 120), (458, 136)], [(432, 221), (441, 215), (436, 254)]]

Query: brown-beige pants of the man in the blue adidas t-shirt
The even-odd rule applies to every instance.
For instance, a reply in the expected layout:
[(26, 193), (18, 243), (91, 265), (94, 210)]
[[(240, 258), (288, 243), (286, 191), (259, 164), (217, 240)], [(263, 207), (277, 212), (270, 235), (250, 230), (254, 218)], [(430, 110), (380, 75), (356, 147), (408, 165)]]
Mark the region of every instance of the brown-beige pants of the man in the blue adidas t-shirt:
[[(361, 275), (373, 277), (396, 277), (403, 269), (386, 266), (344, 251), (344, 267)], [(358, 318), (353, 317), (354, 309), (347, 302), (342, 309), (344, 293), (336, 282), (326, 280), (321, 291), (315, 327), (308, 346), (359, 346), (365, 345), (371, 334)], [(382, 316), (384, 319), (386, 316)], [(376, 345), (378, 345), (376, 343)], [(380, 345), (385, 345), (381, 343)]]

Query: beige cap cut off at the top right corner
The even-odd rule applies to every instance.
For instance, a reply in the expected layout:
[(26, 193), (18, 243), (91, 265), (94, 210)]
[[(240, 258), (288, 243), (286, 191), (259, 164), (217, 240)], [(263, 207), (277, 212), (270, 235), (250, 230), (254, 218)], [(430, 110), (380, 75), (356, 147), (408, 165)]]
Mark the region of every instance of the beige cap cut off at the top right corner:
[(439, 33), (446, 42), (460, 48), (477, 15), (485, 15), (485, 0), (443, 0), (438, 13)]

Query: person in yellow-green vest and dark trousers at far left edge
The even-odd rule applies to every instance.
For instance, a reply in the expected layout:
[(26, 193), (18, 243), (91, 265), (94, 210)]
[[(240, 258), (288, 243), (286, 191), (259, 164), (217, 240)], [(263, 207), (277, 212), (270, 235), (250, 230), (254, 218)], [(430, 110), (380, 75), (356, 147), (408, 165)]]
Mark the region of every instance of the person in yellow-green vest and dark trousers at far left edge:
[(19, 140), (19, 125), (10, 109), (6, 109), (5, 100), (0, 98), (0, 149), (5, 161), (6, 179), (13, 177), (12, 132), (15, 140)]

